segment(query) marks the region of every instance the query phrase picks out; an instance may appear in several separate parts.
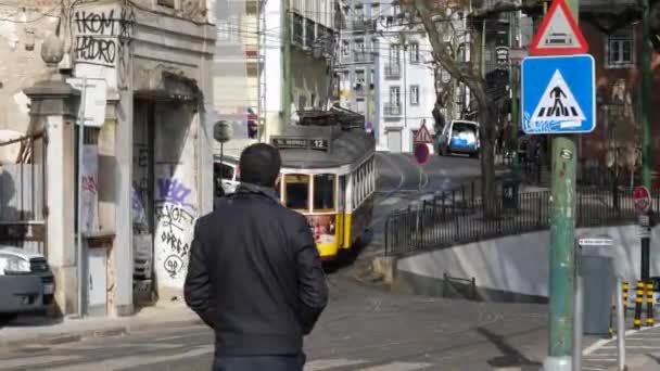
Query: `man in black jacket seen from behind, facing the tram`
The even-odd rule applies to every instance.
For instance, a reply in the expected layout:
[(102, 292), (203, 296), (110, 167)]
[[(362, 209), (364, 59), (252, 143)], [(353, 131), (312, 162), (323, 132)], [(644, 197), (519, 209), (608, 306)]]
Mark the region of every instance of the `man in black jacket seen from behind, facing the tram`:
[(279, 152), (250, 145), (239, 166), (237, 192), (195, 225), (186, 303), (215, 330), (215, 371), (302, 371), (326, 276), (306, 218), (278, 201)]

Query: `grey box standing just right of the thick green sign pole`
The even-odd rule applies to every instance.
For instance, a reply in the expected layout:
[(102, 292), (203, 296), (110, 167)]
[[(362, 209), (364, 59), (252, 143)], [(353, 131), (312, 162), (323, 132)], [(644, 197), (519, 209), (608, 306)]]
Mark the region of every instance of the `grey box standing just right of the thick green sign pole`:
[(611, 256), (578, 256), (578, 272), (583, 282), (583, 323), (584, 333), (606, 335), (610, 329), (612, 294), (615, 290), (614, 265)]

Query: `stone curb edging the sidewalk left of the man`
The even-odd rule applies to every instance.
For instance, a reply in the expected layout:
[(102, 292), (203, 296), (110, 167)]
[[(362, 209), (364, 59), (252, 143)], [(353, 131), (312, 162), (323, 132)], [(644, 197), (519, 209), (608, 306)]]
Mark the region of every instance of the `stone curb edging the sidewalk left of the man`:
[(102, 338), (102, 337), (112, 337), (112, 336), (120, 336), (128, 335), (139, 331), (147, 331), (152, 329), (163, 329), (163, 328), (182, 328), (188, 325), (198, 325), (204, 324), (199, 318), (191, 318), (187, 320), (174, 320), (174, 321), (155, 321), (148, 320), (147, 322), (137, 322), (137, 323), (126, 323), (126, 324), (117, 324), (111, 325), (107, 328), (96, 328), (96, 329), (87, 329), (79, 331), (71, 331), (71, 332), (61, 332), (53, 333), (49, 335), (45, 334), (35, 334), (34, 336), (23, 337), (23, 338), (3, 338), (0, 335), (0, 346), (2, 347), (22, 347), (27, 345), (33, 346), (45, 346), (45, 345), (60, 345), (67, 343), (76, 343), (87, 338)]

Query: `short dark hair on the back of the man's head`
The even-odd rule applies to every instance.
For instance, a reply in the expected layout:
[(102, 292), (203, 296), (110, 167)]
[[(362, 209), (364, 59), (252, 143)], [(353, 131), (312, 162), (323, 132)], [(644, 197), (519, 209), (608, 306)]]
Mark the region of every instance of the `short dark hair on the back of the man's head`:
[(243, 150), (239, 165), (242, 182), (275, 187), (282, 159), (275, 146), (256, 143)]

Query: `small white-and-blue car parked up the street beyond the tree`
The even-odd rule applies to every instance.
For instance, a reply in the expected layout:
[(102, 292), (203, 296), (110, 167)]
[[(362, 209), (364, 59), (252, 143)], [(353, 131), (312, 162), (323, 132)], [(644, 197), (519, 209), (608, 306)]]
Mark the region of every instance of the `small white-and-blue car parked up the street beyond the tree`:
[(452, 120), (440, 133), (437, 146), (437, 152), (443, 156), (464, 153), (479, 157), (479, 123)]

